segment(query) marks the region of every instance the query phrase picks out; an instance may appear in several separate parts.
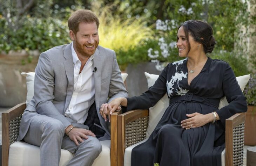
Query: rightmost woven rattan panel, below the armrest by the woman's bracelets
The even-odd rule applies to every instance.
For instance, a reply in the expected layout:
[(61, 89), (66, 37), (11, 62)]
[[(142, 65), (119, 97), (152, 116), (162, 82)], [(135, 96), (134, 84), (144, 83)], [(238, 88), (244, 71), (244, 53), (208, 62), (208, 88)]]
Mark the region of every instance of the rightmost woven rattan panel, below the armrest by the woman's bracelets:
[(243, 166), (244, 122), (233, 129), (233, 164)]

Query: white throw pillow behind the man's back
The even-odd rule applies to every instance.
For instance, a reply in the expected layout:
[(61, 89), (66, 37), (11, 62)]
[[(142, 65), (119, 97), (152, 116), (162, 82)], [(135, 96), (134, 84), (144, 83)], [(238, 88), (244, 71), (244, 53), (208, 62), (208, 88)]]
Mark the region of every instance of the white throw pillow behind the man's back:
[[(35, 73), (34, 72), (29, 72), (29, 73), (22, 72), (21, 75), (26, 77), (26, 81), (27, 81), (26, 104), (28, 106), (30, 100), (34, 96), (34, 78), (35, 78)], [(122, 79), (123, 79), (123, 82), (124, 82), (126, 80), (128, 74), (127, 73), (121, 73), (121, 75), (122, 75)]]

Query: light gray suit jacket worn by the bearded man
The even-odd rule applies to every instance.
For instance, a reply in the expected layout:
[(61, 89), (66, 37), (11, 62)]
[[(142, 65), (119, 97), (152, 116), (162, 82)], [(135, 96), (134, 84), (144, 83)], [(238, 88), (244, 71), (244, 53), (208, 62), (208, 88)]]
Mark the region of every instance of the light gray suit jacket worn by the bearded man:
[[(32, 118), (39, 114), (55, 118), (65, 127), (73, 124), (88, 129), (86, 125), (64, 116), (74, 89), (71, 44), (56, 46), (41, 53), (35, 68), (34, 97), (22, 116), (18, 140), (23, 139)], [(93, 58), (93, 67), (97, 67), (93, 74), (96, 111), (103, 129), (110, 136), (109, 122), (105, 122), (99, 114), (100, 106), (106, 103), (108, 98), (111, 101), (117, 97), (128, 97), (128, 94), (113, 50), (98, 46)]]

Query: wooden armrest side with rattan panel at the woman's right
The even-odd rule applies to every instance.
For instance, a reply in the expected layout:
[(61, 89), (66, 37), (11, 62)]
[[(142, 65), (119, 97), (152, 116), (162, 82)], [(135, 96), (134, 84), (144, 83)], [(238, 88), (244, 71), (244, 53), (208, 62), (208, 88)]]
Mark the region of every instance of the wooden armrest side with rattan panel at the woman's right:
[(226, 119), (225, 165), (243, 165), (245, 113), (237, 113)]

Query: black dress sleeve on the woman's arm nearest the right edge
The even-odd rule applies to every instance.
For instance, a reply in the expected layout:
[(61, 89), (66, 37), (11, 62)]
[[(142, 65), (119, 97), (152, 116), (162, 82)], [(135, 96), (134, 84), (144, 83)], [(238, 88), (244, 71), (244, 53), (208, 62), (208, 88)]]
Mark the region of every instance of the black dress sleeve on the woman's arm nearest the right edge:
[(246, 97), (243, 95), (243, 92), (237, 83), (235, 74), (228, 64), (226, 65), (223, 74), (222, 87), (229, 104), (228, 106), (217, 110), (216, 113), (225, 127), (225, 120), (227, 118), (236, 113), (247, 111)]

